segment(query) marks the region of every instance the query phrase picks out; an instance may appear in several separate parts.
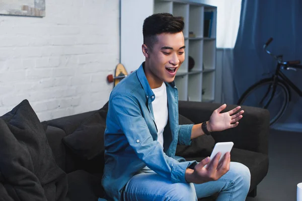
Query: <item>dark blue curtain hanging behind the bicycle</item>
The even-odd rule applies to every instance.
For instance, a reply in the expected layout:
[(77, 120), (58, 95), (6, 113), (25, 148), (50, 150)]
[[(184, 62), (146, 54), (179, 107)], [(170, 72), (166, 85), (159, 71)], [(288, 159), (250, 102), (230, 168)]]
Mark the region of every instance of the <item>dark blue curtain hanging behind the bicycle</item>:
[[(271, 77), (276, 61), (262, 49), (273, 37), (269, 50), (284, 60), (302, 61), (302, 1), (242, 0), (240, 27), (234, 48), (234, 103), (256, 81)], [(302, 90), (302, 70), (283, 71)], [(291, 90), (291, 102), (275, 125), (277, 129), (302, 131), (302, 97)]]

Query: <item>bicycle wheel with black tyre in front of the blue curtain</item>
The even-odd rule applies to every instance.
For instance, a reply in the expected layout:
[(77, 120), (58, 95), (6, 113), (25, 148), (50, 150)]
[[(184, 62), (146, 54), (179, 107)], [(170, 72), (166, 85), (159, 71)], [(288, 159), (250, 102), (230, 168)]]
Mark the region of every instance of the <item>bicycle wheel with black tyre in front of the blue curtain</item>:
[(276, 123), (284, 114), (289, 102), (289, 90), (280, 80), (273, 94), (273, 79), (263, 79), (246, 90), (238, 100), (238, 105), (266, 108), (270, 113), (270, 125)]

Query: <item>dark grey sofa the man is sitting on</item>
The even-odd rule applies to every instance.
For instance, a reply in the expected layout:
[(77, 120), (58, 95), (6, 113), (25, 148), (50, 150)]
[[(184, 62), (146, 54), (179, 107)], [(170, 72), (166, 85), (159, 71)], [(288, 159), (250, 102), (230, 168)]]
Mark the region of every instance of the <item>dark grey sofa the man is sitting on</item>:
[[(219, 104), (212, 103), (180, 101), (179, 124), (204, 122), (209, 119), (212, 112), (219, 106)], [(230, 105), (226, 110), (231, 110), (235, 107)], [(179, 145), (177, 155), (183, 156), (187, 160), (200, 161), (210, 155), (215, 142), (233, 141), (234, 148), (231, 152), (231, 161), (241, 162), (249, 167), (251, 172), (249, 195), (255, 196), (257, 185), (266, 176), (268, 171), (269, 113), (267, 110), (258, 108), (242, 107), (242, 109), (245, 110), (244, 117), (237, 128), (213, 133), (213, 138), (202, 138), (203, 136), (201, 136), (193, 141), (190, 147)], [(90, 151), (89, 134), (87, 134), (85, 139), (86, 144), (84, 143), (87, 146), (87, 150), (81, 153), (77, 152), (79, 150), (74, 150), (73, 147), (68, 146), (63, 139), (66, 136), (74, 135), (74, 131), (79, 129), (81, 125), (83, 126), (83, 122), (87, 122), (87, 119), (96, 113), (100, 115), (102, 120), (92, 122), (94, 122), (94, 126), (103, 124), (101, 128), (104, 129), (106, 111), (107, 105), (98, 111), (48, 121), (46, 137), (57, 165), (67, 173), (67, 198), (72, 201), (97, 200), (98, 197), (104, 196), (101, 185), (104, 166), (104, 147), (99, 147), (96, 156), (86, 154), (84, 157), (81, 157), (81, 153)], [(82, 127), (80, 131), (84, 132), (85, 129), (89, 129), (89, 125)], [(99, 133), (99, 135), (101, 134)], [(102, 142), (102, 139), (99, 139), (97, 143), (102, 144)], [(216, 196), (217, 194), (200, 200), (215, 200)]]

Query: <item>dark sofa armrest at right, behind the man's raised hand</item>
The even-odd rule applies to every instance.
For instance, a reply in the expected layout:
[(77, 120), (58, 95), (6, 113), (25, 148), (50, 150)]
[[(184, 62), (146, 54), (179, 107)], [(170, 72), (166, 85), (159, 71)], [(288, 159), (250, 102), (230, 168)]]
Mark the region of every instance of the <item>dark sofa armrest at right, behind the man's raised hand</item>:
[[(221, 104), (179, 101), (179, 114), (195, 124), (208, 121), (214, 110)], [(237, 105), (228, 105), (222, 112), (230, 111)], [(242, 106), (243, 118), (236, 128), (212, 133), (215, 142), (234, 142), (234, 147), (268, 154), (269, 112), (268, 110)]]

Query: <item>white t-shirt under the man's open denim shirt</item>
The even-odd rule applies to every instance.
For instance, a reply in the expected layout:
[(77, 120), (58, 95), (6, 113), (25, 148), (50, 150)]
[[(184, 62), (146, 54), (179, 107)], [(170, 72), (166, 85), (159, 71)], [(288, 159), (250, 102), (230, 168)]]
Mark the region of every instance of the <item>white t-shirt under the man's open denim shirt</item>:
[(168, 122), (168, 100), (166, 84), (163, 82), (159, 88), (154, 88), (155, 99), (152, 102), (155, 124), (158, 129), (158, 141), (164, 148), (163, 132)]

